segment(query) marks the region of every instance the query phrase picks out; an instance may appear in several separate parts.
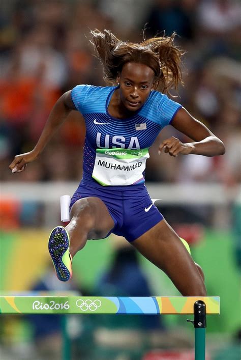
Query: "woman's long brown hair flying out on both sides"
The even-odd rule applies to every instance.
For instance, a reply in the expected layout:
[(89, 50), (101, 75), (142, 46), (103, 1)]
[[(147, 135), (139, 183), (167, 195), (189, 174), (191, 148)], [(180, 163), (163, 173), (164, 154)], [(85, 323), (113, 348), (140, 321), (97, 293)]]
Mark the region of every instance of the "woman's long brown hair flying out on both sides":
[(169, 90), (177, 90), (179, 82), (182, 83), (180, 66), (184, 51), (173, 44), (175, 35), (155, 37), (138, 44), (123, 42), (108, 30), (103, 33), (95, 30), (91, 31), (91, 43), (103, 64), (107, 84), (116, 84), (116, 77), (124, 64), (141, 63), (153, 69), (155, 89), (170, 95)]

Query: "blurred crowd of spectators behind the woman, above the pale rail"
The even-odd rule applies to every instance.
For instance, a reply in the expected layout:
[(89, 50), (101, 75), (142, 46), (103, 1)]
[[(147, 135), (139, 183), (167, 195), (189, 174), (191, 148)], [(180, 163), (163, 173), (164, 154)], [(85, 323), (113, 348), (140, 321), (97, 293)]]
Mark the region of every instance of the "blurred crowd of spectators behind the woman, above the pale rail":
[(235, 0), (3, 0), (0, 15), (0, 180), (80, 180), (85, 126), (78, 112), (27, 171), (12, 175), (14, 155), (35, 146), (48, 114), (78, 84), (105, 85), (89, 30), (109, 29), (122, 40), (170, 35), (186, 50), (185, 86), (175, 100), (226, 146), (221, 157), (158, 156), (171, 126), (150, 150), (146, 180), (241, 181), (241, 6)]

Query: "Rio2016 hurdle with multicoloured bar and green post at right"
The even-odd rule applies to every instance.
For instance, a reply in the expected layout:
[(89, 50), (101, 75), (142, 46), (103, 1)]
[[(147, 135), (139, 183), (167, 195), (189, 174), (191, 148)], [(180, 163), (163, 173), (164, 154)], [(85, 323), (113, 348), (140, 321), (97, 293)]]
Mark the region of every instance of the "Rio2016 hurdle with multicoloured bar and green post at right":
[(0, 296), (0, 314), (193, 314), (195, 360), (205, 360), (206, 315), (220, 314), (220, 298), (183, 296)]

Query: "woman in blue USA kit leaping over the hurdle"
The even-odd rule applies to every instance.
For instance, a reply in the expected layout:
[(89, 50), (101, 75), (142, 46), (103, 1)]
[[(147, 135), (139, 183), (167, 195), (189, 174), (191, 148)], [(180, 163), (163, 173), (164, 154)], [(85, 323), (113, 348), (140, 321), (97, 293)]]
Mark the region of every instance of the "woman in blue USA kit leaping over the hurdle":
[[(72, 275), (72, 258), (87, 239), (110, 233), (124, 236), (145, 258), (162, 269), (184, 296), (205, 296), (204, 276), (178, 235), (152, 203), (144, 183), (148, 149), (166, 125), (189, 136), (164, 140), (159, 152), (171, 156), (224, 154), (225, 148), (206, 126), (171, 100), (182, 81), (183, 51), (175, 34), (142, 43), (123, 42), (111, 32), (91, 32), (104, 68), (106, 87), (78, 85), (54, 105), (35, 148), (15, 156), (13, 173), (34, 161), (64, 123), (78, 110), (86, 123), (83, 178), (70, 205), (70, 223), (49, 237), (49, 252), (59, 280)], [(130, 274), (131, 276), (131, 274)]]

